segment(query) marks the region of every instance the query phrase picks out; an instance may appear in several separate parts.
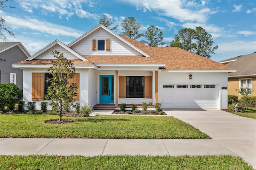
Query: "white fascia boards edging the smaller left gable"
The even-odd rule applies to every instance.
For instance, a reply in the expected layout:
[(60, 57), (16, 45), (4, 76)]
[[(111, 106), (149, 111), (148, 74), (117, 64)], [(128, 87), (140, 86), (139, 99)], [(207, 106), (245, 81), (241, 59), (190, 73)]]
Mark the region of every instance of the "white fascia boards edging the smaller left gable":
[(44, 47), (43, 49), (41, 49), (40, 51), (38, 51), (37, 53), (35, 53), (34, 55), (32, 55), (31, 57), (29, 57), (26, 60), (29, 61), (29, 60), (32, 60), (32, 59), (38, 57), (39, 55), (41, 55), (42, 53), (44, 53), (45, 51), (47, 51), (48, 49), (50, 49), (51, 47), (53, 47), (56, 44), (60, 45), (62, 48), (66, 49), (67, 51), (69, 51), (70, 53), (72, 53), (73, 55), (75, 55), (76, 57), (81, 59), (82, 61), (88, 61), (87, 59), (82, 57), (80, 54), (76, 53), (76, 51), (72, 50), (70, 47), (66, 46), (64, 43), (60, 42), (59, 40), (55, 40), (54, 42), (50, 43), (49, 45), (47, 45), (46, 47)]

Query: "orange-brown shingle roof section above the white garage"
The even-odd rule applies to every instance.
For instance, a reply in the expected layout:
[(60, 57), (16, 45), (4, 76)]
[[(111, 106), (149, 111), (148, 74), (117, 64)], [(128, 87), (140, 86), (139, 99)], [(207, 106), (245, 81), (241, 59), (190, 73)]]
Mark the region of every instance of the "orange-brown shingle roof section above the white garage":
[(192, 70), (232, 70), (232, 67), (212, 61), (178, 47), (149, 47), (136, 40), (122, 36), (158, 63), (166, 63), (164, 69), (192, 69)]

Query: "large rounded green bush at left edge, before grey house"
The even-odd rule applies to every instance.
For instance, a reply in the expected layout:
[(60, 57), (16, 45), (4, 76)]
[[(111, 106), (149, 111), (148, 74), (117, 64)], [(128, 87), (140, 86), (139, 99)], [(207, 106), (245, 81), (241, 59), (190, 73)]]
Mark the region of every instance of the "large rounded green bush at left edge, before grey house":
[(13, 83), (0, 84), (0, 111), (13, 110), (18, 101), (22, 99), (22, 91)]

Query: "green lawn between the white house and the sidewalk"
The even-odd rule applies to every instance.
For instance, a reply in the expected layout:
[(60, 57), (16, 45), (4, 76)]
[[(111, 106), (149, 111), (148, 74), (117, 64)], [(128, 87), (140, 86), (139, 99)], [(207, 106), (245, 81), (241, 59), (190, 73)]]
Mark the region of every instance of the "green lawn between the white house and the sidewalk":
[(98, 115), (63, 117), (73, 123), (52, 125), (45, 120), (57, 115), (0, 115), (1, 138), (210, 138), (174, 117)]

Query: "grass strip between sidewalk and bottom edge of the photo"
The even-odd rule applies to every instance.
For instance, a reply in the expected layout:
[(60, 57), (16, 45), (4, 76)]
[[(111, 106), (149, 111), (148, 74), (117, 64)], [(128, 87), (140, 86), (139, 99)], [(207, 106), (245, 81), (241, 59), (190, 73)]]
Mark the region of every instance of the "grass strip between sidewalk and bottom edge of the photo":
[(0, 169), (253, 170), (234, 156), (4, 156)]

